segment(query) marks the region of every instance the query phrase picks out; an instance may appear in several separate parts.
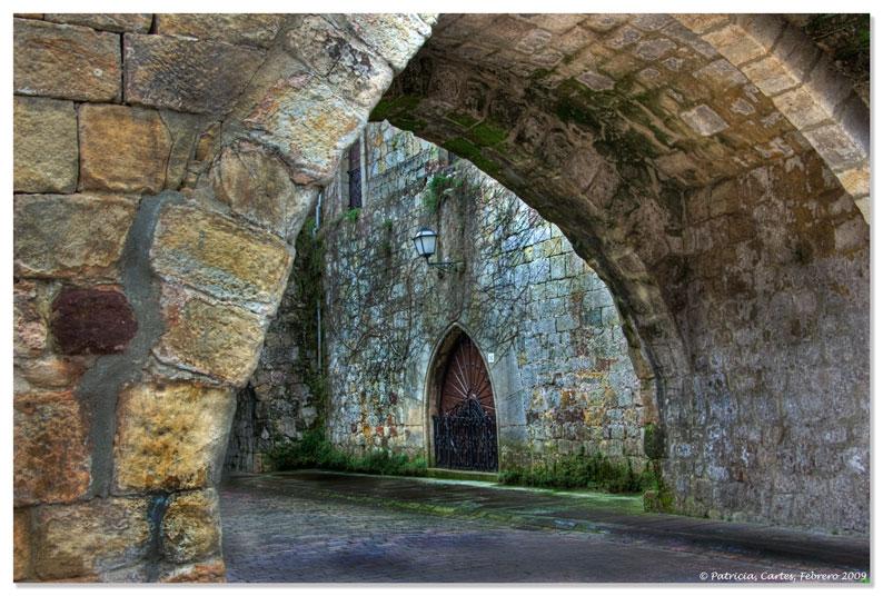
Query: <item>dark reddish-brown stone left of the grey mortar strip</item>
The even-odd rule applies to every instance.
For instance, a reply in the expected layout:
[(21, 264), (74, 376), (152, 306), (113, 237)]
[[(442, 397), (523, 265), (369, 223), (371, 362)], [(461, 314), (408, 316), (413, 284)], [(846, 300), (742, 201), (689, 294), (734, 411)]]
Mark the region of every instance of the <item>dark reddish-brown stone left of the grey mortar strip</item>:
[(65, 288), (52, 302), (51, 328), (62, 354), (113, 354), (126, 349), (138, 322), (118, 290)]

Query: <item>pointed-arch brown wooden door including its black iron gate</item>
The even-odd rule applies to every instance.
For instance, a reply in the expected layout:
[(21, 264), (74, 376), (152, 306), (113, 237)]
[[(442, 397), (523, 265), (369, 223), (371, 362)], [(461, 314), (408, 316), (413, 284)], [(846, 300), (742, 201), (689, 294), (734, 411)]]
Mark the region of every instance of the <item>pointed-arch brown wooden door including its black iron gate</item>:
[(438, 415), (433, 417), (436, 466), (497, 469), (497, 425), (490, 375), (466, 334), (448, 357)]

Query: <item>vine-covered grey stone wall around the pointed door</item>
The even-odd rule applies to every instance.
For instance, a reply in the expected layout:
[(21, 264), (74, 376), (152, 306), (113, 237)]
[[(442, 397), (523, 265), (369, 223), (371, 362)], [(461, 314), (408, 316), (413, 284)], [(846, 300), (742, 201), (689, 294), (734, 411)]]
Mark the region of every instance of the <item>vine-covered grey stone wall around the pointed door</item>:
[[(364, 145), (363, 208), (349, 210), (346, 175), (323, 201), (331, 440), (430, 455), (429, 369), (456, 325), (487, 360), (502, 469), (598, 451), (643, 469), (652, 379), (635, 375), (609, 291), (560, 230), (409, 133), (370, 125)], [(456, 270), (416, 258), (421, 226)]]

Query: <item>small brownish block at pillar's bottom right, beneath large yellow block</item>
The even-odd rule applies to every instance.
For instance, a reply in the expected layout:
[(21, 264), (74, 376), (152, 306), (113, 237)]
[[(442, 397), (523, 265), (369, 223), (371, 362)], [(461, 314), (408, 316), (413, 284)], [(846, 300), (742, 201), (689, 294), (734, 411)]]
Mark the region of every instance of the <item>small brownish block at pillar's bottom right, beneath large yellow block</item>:
[(220, 506), (214, 488), (178, 493), (162, 518), (162, 556), (172, 563), (206, 560), (220, 554)]

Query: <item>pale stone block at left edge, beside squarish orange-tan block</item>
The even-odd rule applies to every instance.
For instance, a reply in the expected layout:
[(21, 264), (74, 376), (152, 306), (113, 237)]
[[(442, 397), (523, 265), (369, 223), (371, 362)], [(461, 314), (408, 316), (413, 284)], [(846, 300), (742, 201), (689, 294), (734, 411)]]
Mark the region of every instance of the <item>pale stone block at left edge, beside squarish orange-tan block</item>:
[(14, 101), (14, 190), (73, 192), (78, 167), (73, 102), (27, 97)]

